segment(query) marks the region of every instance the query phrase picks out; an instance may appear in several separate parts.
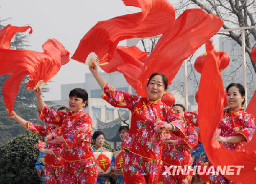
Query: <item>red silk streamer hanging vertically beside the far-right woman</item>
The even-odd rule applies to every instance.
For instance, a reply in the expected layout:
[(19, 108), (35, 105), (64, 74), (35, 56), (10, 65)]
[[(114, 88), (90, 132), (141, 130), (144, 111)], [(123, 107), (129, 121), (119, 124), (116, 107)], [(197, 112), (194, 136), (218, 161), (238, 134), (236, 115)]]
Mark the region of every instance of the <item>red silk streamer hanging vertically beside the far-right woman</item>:
[(206, 51), (208, 55), (200, 79), (198, 110), (199, 129), (205, 152), (214, 166), (245, 166), (239, 175), (236, 174), (238, 168), (234, 168), (235, 174), (225, 175), (226, 178), (242, 183), (255, 183), (256, 151), (230, 151), (213, 139), (223, 116), (224, 86), (218, 69), (220, 61), (215, 57), (213, 46), (209, 42), (206, 44)]

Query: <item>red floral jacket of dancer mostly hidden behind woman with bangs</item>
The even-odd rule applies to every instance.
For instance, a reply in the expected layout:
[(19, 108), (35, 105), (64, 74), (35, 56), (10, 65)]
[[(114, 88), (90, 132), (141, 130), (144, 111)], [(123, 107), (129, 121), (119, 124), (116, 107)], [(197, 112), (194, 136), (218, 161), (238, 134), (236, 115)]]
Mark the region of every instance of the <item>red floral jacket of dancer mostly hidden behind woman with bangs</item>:
[[(34, 125), (31, 122), (28, 122), (28, 130), (34, 133), (37, 133), (41, 136), (46, 136), (49, 133), (56, 133), (57, 136), (61, 136), (61, 128), (56, 125), (44, 126), (44, 125)], [(47, 143), (48, 149), (62, 149), (62, 143)], [(64, 160), (61, 157), (54, 154), (46, 154), (45, 163), (53, 167), (61, 167), (64, 163)]]

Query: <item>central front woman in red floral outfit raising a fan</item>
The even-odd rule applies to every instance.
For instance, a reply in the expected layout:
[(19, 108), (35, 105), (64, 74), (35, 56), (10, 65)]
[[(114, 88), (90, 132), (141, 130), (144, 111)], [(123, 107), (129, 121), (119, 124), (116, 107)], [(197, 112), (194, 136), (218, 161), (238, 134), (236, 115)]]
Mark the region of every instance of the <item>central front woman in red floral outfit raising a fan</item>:
[[(161, 131), (185, 132), (180, 116), (161, 102), (167, 91), (167, 78), (153, 74), (148, 80), (147, 98), (124, 93), (107, 83), (98, 73), (96, 64), (90, 66), (95, 79), (103, 89), (102, 98), (115, 107), (132, 112), (131, 128), (121, 145), (125, 150), (123, 177), (128, 183), (157, 183), (161, 160)], [(167, 122), (160, 131), (155, 130), (158, 121)]]

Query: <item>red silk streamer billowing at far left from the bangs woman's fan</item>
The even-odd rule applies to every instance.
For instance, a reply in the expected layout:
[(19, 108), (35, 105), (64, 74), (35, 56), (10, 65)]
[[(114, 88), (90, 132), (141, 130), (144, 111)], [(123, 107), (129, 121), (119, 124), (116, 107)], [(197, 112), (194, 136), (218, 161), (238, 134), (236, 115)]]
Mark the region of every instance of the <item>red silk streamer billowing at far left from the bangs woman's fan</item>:
[(12, 74), (3, 85), (3, 97), (9, 117), (13, 110), (19, 84), (26, 75), (30, 75), (28, 89), (33, 89), (38, 81), (47, 83), (57, 74), (62, 64), (69, 62), (69, 52), (56, 39), (49, 39), (42, 45), (44, 53), (27, 50), (11, 50), (6, 45), (16, 32), (26, 31), (30, 27), (8, 25), (0, 30), (0, 75)]

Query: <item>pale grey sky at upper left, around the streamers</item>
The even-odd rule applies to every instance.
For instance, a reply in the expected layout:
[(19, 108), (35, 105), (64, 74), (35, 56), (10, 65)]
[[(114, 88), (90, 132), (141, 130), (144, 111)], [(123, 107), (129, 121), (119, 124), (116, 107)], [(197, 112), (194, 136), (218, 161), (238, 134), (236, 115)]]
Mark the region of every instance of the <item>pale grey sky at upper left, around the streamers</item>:
[[(11, 17), (6, 23), (33, 28), (29, 50), (42, 52), (41, 45), (49, 38), (56, 38), (69, 50), (70, 56), (83, 35), (98, 21), (140, 11), (126, 7), (121, 0), (2, 0), (0, 6), (0, 18)], [(44, 99), (59, 100), (60, 84), (84, 82), (87, 72), (90, 72), (88, 65), (75, 60), (63, 65), (49, 83), (50, 92)]]

